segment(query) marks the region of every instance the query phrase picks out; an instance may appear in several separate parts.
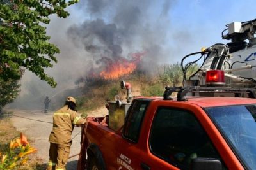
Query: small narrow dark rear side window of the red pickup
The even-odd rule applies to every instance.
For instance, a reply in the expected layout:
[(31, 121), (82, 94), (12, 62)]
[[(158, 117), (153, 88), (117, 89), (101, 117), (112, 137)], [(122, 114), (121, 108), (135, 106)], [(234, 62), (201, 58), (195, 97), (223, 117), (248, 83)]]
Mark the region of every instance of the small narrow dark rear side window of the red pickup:
[(125, 120), (123, 136), (131, 141), (137, 142), (140, 135), (140, 127), (143, 117), (150, 101), (133, 101)]

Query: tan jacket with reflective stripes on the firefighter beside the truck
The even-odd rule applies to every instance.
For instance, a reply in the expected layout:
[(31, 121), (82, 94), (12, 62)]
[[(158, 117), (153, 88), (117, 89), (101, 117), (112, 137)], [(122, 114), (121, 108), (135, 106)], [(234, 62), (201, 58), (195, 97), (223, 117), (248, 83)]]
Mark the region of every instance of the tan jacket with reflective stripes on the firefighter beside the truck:
[(71, 142), (71, 135), (74, 126), (83, 125), (86, 118), (80, 117), (76, 111), (73, 111), (65, 105), (53, 114), (53, 127), (49, 136), (49, 142), (65, 144)]

